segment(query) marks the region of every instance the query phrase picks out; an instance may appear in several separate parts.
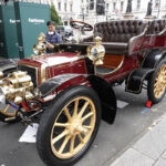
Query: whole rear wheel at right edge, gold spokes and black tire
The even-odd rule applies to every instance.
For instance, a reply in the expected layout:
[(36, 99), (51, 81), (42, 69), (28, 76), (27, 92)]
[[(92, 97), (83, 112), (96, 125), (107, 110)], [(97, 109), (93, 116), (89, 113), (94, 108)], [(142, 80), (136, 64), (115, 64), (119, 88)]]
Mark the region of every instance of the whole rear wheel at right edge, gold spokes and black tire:
[(163, 100), (166, 92), (166, 60), (162, 60), (155, 72), (149, 76), (147, 95), (154, 104)]

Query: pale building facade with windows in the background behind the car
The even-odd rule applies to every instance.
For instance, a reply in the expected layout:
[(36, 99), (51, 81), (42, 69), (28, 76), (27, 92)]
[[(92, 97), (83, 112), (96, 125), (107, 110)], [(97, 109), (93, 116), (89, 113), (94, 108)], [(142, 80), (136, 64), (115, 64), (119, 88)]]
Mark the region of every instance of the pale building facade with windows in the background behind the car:
[[(132, 0), (135, 19), (144, 19), (151, 0)], [(53, 0), (63, 24), (80, 20), (94, 24), (100, 21), (123, 19), (128, 0)], [(166, 0), (152, 0), (154, 18), (166, 15)], [(104, 11), (103, 11), (104, 10)], [(100, 12), (102, 11), (102, 12)]]

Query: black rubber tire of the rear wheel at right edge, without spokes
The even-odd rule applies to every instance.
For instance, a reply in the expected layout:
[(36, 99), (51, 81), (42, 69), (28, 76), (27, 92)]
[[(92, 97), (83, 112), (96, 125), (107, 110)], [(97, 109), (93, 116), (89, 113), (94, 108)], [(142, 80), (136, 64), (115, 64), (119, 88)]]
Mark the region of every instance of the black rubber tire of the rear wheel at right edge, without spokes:
[(165, 96), (165, 93), (163, 93), (163, 95), (159, 97), (159, 98), (156, 98), (155, 97), (155, 94), (154, 94), (154, 84), (155, 84), (155, 79), (157, 76), (157, 73), (159, 71), (159, 69), (162, 68), (163, 64), (166, 64), (166, 59), (162, 60), (155, 72), (153, 72), (151, 75), (149, 75), (149, 79), (148, 79), (148, 84), (147, 84), (147, 96), (148, 96), (148, 100), (152, 101), (153, 104), (156, 104), (158, 102), (160, 102), (163, 100), (163, 97)]

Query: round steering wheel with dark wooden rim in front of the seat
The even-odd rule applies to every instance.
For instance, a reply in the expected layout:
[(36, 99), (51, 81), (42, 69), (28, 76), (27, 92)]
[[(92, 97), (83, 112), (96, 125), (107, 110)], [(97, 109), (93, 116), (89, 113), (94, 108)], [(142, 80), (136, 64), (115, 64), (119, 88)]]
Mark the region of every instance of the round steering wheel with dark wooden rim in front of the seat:
[(85, 23), (83, 21), (74, 21), (72, 20), (70, 22), (71, 27), (74, 28), (74, 29), (79, 29), (81, 31), (92, 31), (93, 30), (93, 27), (89, 23)]

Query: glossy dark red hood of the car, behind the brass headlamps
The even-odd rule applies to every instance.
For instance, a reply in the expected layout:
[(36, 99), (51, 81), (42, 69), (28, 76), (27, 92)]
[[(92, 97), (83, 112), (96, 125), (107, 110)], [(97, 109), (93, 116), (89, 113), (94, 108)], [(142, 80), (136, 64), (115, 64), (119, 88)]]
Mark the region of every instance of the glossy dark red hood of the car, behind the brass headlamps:
[(45, 79), (64, 73), (87, 74), (84, 59), (79, 59), (75, 53), (56, 53), (45, 56), (37, 56), (35, 60), (23, 59), (18, 62), (20, 65), (38, 68), (38, 85), (41, 82), (41, 68), (45, 68)]

